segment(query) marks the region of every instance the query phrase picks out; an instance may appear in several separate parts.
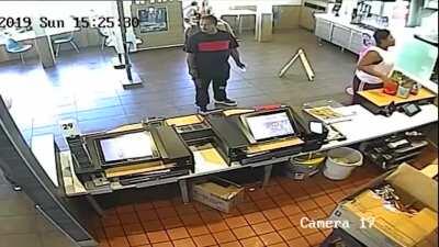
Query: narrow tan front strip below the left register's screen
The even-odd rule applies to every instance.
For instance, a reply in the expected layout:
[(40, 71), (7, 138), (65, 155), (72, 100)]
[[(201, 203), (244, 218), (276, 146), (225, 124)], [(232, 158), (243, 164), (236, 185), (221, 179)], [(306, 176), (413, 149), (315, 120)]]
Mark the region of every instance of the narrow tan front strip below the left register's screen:
[(109, 168), (105, 170), (105, 175), (106, 175), (106, 178), (114, 178), (114, 177), (121, 177), (121, 176), (127, 176), (127, 175), (136, 175), (136, 173), (143, 173), (143, 172), (157, 171), (157, 170), (171, 168), (175, 166), (176, 166), (176, 164), (164, 165), (164, 162), (161, 160), (158, 160), (158, 161), (136, 164), (136, 165), (131, 165), (131, 166)]

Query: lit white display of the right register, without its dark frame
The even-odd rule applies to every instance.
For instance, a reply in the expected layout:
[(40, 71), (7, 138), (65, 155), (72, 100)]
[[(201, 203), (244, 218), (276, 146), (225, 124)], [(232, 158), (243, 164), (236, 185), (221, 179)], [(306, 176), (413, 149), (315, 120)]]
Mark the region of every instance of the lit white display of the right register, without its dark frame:
[(256, 141), (294, 134), (286, 112), (248, 116), (246, 120)]

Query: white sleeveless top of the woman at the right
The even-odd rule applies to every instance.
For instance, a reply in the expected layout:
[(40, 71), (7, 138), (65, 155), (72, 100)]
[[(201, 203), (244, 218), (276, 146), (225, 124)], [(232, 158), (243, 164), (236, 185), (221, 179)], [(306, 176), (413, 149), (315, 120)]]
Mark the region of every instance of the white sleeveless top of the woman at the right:
[[(369, 52), (376, 52), (380, 57), (383, 59), (380, 64), (378, 65), (370, 65), (372, 66), (373, 70), (384, 74), (384, 75), (390, 75), (390, 72), (393, 69), (394, 63), (395, 63), (395, 58), (392, 52), (382, 49), (378, 46), (371, 46), (369, 47), (367, 50), (364, 50), (364, 53), (360, 54), (360, 59), (358, 60), (358, 63), (360, 63), (360, 60), (364, 57), (365, 54), (368, 54)], [(372, 76), (363, 70), (356, 70), (356, 76), (358, 77), (358, 79), (360, 79), (362, 82), (365, 83), (381, 83), (382, 80), (379, 77)]]

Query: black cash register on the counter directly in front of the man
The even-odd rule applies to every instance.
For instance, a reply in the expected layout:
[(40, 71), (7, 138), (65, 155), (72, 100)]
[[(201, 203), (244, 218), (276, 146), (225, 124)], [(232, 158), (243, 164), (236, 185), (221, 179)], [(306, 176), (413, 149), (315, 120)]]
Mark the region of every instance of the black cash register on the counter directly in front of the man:
[(292, 111), (284, 105), (225, 110), (207, 115), (206, 121), (228, 164), (289, 157), (304, 145)]

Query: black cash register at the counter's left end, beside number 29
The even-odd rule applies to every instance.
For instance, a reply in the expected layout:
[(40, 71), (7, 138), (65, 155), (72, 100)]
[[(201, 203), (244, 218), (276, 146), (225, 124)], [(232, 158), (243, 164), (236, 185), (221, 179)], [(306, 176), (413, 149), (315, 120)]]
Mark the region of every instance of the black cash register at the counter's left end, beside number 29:
[(173, 126), (162, 121), (110, 132), (70, 136), (75, 172), (89, 187), (122, 186), (188, 175), (192, 153)]

